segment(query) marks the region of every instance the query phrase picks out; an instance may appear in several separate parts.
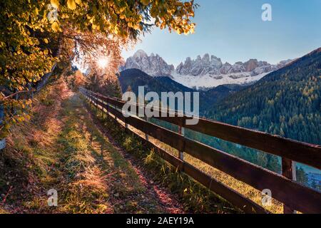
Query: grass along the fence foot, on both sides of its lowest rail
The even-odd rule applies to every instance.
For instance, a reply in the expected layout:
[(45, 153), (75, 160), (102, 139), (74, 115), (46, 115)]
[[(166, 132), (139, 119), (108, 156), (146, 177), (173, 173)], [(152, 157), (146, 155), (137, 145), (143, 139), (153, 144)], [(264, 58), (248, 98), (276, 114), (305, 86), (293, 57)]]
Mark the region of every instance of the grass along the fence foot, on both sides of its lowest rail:
[[(123, 145), (128, 152), (135, 154), (141, 160), (143, 160), (144, 165), (150, 167), (152, 172), (156, 172), (156, 180), (165, 182), (165, 185), (168, 185), (171, 190), (181, 194), (186, 207), (196, 212), (236, 212), (235, 209), (229, 208), (228, 204), (224, 204), (222, 201), (218, 200), (217, 196), (208, 192), (208, 190), (201, 187), (197, 182), (194, 182), (186, 175), (180, 175), (178, 172), (175, 172), (173, 168), (170, 169), (170, 166), (164, 165), (166, 162), (163, 162), (163, 160), (161, 160), (158, 155), (153, 153), (153, 151), (148, 152), (146, 147), (141, 145), (141, 142), (139, 142), (137, 138), (121, 132), (121, 128), (118, 127), (118, 124), (123, 123), (120, 120), (118, 120), (118, 123), (115, 123), (115, 121), (110, 120), (110, 118), (102, 118), (101, 113), (97, 113), (95, 109), (93, 109), (93, 111), (95, 111), (96, 115), (98, 115), (99, 120), (103, 122), (105, 128), (108, 128), (109, 131), (111, 131), (113, 138), (116, 138), (119, 144)], [(132, 128), (131, 126), (129, 128), (144, 137), (145, 134), (140, 130)], [(165, 145), (163, 142), (156, 140), (151, 136), (149, 136), (149, 140), (171, 154), (178, 155), (178, 150), (175, 150), (173, 147)], [(250, 185), (236, 180), (230, 175), (227, 175), (224, 172), (221, 172), (220, 170), (217, 170), (190, 155), (185, 154), (184, 160), (195, 167), (198, 167), (198, 169), (214, 177), (216, 180), (228, 185), (233, 190), (240, 192), (240, 194), (245, 195), (254, 202), (262, 205), (261, 192), (255, 190), (255, 188), (251, 187)], [(161, 175), (158, 170), (161, 171)], [(265, 206), (265, 208), (272, 213), (282, 213), (282, 204), (275, 199), (272, 199), (272, 204), (270, 206)]]

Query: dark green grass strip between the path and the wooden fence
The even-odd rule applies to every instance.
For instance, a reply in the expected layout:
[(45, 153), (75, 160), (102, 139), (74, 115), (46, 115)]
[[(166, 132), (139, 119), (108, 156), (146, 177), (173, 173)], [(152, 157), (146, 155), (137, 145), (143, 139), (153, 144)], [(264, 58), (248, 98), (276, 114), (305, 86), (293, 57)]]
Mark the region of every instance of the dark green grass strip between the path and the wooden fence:
[[(88, 107), (90, 107), (88, 105)], [(130, 152), (149, 172), (153, 173), (153, 180), (167, 187), (171, 192), (180, 196), (185, 211), (199, 213), (239, 213), (240, 210), (233, 207), (224, 199), (210, 192), (207, 188), (195, 182), (188, 175), (178, 172), (159, 157), (151, 148), (141, 143), (141, 140), (135, 135), (128, 134), (120, 128), (113, 118), (101, 115), (96, 108), (91, 109), (93, 113), (101, 120), (103, 126), (108, 129), (118, 145), (121, 145), (126, 152)]]

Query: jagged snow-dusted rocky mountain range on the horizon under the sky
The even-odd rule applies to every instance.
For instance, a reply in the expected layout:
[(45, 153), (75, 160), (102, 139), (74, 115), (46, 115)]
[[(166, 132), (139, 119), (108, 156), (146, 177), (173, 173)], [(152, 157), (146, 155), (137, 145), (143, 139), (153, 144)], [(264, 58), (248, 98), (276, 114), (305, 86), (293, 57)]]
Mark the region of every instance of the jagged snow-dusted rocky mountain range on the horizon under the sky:
[(166, 76), (190, 88), (212, 88), (223, 84), (250, 84), (263, 78), (267, 73), (282, 68), (291, 60), (273, 65), (266, 61), (250, 59), (246, 62), (223, 63), (220, 58), (206, 53), (203, 57), (190, 57), (176, 68), (166, 63), (158, 54), (150, 56), (138, 50), (127, 58), (121, 70), (136, 68), (153, 77)]

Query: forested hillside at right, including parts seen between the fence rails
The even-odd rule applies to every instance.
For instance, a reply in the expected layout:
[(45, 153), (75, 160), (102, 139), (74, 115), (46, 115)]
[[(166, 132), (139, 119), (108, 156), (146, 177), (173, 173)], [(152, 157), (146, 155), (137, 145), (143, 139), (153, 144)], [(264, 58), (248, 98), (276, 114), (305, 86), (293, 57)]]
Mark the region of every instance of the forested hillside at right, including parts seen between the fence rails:
[[(319, 48), (285, 68), (270, 73), (252, 86), (218, 86), (208, 90), (208, 97), (218, 100), (204, 107), (203, 114), (232, 125), (320, 145), (320, 63)], [(227, 88), (238, 91), (230, 93)], [(281, 172), (280, 157), (208, 135), (190, 131), (185, 133), (189, 138), (200, 140), (206, 145), (274, 172)], [(297, 164), (298, 182), (320, 189), (315, 184), (321, 180), (320, 177), (320, 171)]]

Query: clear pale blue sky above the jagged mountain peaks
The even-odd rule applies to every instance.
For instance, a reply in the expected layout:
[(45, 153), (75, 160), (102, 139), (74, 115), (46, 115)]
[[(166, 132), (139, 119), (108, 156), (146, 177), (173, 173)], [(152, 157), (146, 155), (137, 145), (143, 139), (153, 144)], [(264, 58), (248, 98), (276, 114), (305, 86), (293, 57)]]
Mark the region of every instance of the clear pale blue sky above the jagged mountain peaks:
[[(153, 29), (123, 57), (138, 49), (158, 53), (175, 66), (187, 56), (205, 53), (223, 62), (249, 58), (277, 63), (321, 46), (321, 0), (195, 0), (195, 33), (185, 36)], [(272, 21), (263, 21), (263, 4), (272, 6)]]

